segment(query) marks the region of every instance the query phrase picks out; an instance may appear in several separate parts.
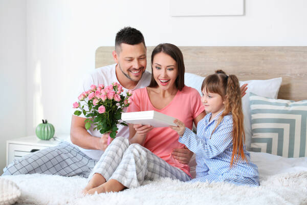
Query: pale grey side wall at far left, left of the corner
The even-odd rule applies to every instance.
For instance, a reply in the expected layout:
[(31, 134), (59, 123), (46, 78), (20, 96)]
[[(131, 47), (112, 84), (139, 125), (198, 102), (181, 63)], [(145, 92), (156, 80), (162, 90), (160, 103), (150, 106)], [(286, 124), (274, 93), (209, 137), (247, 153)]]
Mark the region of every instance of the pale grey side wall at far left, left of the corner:
[(0, 0), (0, 175), (6, 140), (26, 134), (26, 2)]

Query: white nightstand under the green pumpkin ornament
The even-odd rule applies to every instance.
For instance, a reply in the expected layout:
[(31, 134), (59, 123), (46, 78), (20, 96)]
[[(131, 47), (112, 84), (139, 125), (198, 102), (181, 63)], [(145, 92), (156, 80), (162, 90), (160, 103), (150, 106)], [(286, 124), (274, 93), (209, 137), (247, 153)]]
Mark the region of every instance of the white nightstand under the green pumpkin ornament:
[(70, 141), (69, 134), (57, 135), (50, 140), (40, 140), (36, 135), (7, 140), (6, 164), (13, 159), (23, 157), (31, 152), (58, 145), (61, 141)]

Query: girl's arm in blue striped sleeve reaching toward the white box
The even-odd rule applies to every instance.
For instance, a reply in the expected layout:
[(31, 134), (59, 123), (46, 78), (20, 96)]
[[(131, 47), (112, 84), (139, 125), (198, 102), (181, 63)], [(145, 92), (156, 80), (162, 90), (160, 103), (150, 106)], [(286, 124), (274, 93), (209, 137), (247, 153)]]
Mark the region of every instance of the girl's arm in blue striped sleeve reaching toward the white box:
[[(178, 124), (177, 124), (178, 125)], [(179, 130), (181, 126), (177, 129)], [(176, 127), (174, 128), (176, 130)], [(201, 129), (202, 130), (202, 129)], [(182, 130), (183, 131), (183, 130)], [(194, 134), (190, 129), (184, 128), (184, 131), (178, 133), (179, 142), (184, 144), (189, 150), (194, 152), (196, 155), (205, 157), (205, 158), (213, 158), (227, 149), (232, 142), (232, 118), (224, 118), (218, 128), (214, 131), (207, 142), (201, 139), (199, 136)], [(211, 135), (211, 133), (209, 133)]]

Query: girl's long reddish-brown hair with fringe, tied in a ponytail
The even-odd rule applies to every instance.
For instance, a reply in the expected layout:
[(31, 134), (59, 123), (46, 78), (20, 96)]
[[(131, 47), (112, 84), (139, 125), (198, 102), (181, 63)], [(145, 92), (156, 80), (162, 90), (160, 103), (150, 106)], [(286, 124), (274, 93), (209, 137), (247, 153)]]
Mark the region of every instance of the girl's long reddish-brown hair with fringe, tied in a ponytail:
[(243, 126), (243, 111), (242, 111), (242, 101), (241, 101), (241, 90), (239, 85), (239, 80), (235, 75), (227, 76), (222, 70), (215, 71), (215, 74), (207, 76), (202, 84), (202, 90), (206, 89), (206, 92), (217, 93), (222, 96), (225, 101), (225, 109), (217, 120), (217, 124), (212, 131), (211, 135), (221, 123), (224, 116), (228, 115), (230, 112), (233, 119), (233, 150), (230, 161), (230, 167), (239, 158), (246, 159), (244, 154), (243, 145), (245, 142), (245, 132)]

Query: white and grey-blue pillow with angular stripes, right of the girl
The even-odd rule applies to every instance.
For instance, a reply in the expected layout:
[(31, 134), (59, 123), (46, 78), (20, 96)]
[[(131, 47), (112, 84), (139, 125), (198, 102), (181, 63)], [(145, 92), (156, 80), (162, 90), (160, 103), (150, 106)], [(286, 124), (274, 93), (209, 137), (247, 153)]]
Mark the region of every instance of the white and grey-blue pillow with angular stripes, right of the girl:
[(250, 93), (251, 151), (282, 157), (307, 156), (307, 100), (293, 101)]

